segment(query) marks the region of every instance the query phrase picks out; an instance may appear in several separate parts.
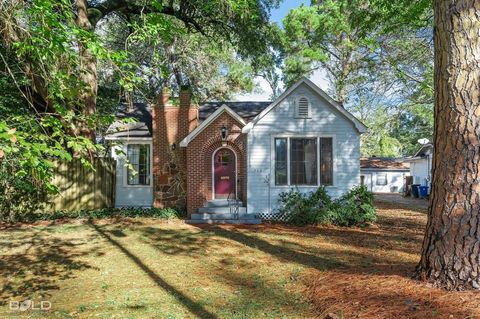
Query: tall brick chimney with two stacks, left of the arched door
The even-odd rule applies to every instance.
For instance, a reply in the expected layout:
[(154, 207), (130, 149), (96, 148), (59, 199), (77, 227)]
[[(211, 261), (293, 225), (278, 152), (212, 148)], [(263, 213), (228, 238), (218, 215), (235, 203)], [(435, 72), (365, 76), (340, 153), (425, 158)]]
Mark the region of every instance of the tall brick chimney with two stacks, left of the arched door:
[(184, 209), (186, 206), (186, 149), (180, 142), (198, 125), (198, 107), (191, 92), (182, 88), (179, 105), (172, 105), (163, 89), (152, 110), (154, 206)]

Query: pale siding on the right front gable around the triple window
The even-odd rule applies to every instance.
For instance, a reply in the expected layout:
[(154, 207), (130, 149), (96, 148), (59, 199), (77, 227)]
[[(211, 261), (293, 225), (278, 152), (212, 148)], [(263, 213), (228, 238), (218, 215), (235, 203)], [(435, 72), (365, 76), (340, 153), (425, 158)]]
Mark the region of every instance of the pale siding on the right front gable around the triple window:
[[(296, 118), (295, 101), (310, 100), (310, 118)], [(333, 137), (334, 185), (328, 192), (338, 197), (360, 184), (360, 135), (354, 124), (328, 105), (305, 84), (273, 108), (248, 133), (247, 209), (249, 213), (275, 211), (278, 195), (292, 187), (274, 185), (272, 138), (276, 135)], [(302, 192), (317, 187), (299, 187)]]

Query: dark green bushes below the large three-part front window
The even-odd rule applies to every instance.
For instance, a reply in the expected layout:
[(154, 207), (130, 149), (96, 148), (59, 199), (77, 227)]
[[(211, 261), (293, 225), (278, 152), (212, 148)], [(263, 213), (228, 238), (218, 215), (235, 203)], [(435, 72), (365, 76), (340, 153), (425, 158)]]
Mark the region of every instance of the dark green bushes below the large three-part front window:
[(365, 226), (376, 220), (373, 194), (358, 186), (342, 197), (332, 200), (325, 187), (315, 192), (300, 193), (291, 190), (280, 194), (280, 214), (296, 226), (334, 224), (338, 226)]

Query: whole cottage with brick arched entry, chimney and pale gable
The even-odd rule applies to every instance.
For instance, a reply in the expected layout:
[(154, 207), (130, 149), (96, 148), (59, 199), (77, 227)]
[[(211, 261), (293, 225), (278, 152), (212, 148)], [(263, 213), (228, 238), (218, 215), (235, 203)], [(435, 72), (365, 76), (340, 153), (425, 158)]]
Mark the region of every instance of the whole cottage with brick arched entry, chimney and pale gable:
[(233, 202), (241, 222), (254, 222), (275, 213), (281, 192), (325, 185), (340, 196), (360, 183), (367, 128), (306, 78), (273, 102), (195, 106), (182, 91), (173, 106), (163, 92), (118, 117), (138, 122), (106, 136), (116, 142), (117, 206), (185, 207), (196, 221), (230, 222)]

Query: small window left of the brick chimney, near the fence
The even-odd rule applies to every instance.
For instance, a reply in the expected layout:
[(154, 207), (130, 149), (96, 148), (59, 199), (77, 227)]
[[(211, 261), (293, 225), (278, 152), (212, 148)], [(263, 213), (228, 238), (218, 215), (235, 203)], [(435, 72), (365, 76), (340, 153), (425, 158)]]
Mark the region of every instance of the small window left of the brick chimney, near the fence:
[(150, 185), (150, 145), (128, 144), (127, 158), (127, 184)]

